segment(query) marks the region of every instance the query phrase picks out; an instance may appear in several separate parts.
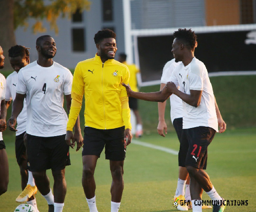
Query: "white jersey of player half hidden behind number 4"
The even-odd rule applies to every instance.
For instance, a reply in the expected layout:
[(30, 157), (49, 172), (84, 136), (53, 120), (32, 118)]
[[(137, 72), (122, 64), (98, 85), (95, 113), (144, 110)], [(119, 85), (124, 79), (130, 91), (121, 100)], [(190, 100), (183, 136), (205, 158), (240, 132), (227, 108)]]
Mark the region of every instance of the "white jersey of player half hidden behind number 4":
[[(6, 78), (6, 101), (14, 101), (16, 97), (16, 85), (18, 81), (18, 73), (14, 71)], [(24, 99), (23, 109), (17, 117), (16, 136), (26, 131), (26, 99)]]

